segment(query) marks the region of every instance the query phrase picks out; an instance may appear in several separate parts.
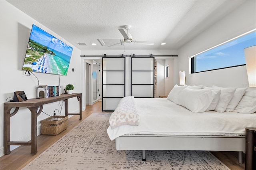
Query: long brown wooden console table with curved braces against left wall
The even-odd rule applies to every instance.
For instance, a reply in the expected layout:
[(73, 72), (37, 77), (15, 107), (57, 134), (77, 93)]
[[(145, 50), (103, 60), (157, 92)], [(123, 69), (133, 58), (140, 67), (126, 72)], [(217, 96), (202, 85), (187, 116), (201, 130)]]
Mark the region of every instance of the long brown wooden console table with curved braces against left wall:
[[(68, 113), (68, 99), (77, 97), (79, 101), (80, 113)], [(31, 145), (31, 154), (37, 152), (37, 117), (42, 112), (44, 104), (54, 103), (56, 101), (65, 101), (65, 115), (80, 115), (82, 120), (82, 93), (62, 94), (56, 97), (43, 99), (28, 99), (22, 102), (4, 103), (4, 154), (10, 154), (10, 145)], [(11, 109), (16, 109), (10, 113)], [(28, 142), (10, 141), (10, 117), (14, 116), (20, 107), (27, 107), (31, 111), (31, 140)], [(40, 109), (39, 109), (40, 107)], [(38, 111), (39, 109), (39, 111)], [(38, 112), (37, 112), (38, 111)]]

